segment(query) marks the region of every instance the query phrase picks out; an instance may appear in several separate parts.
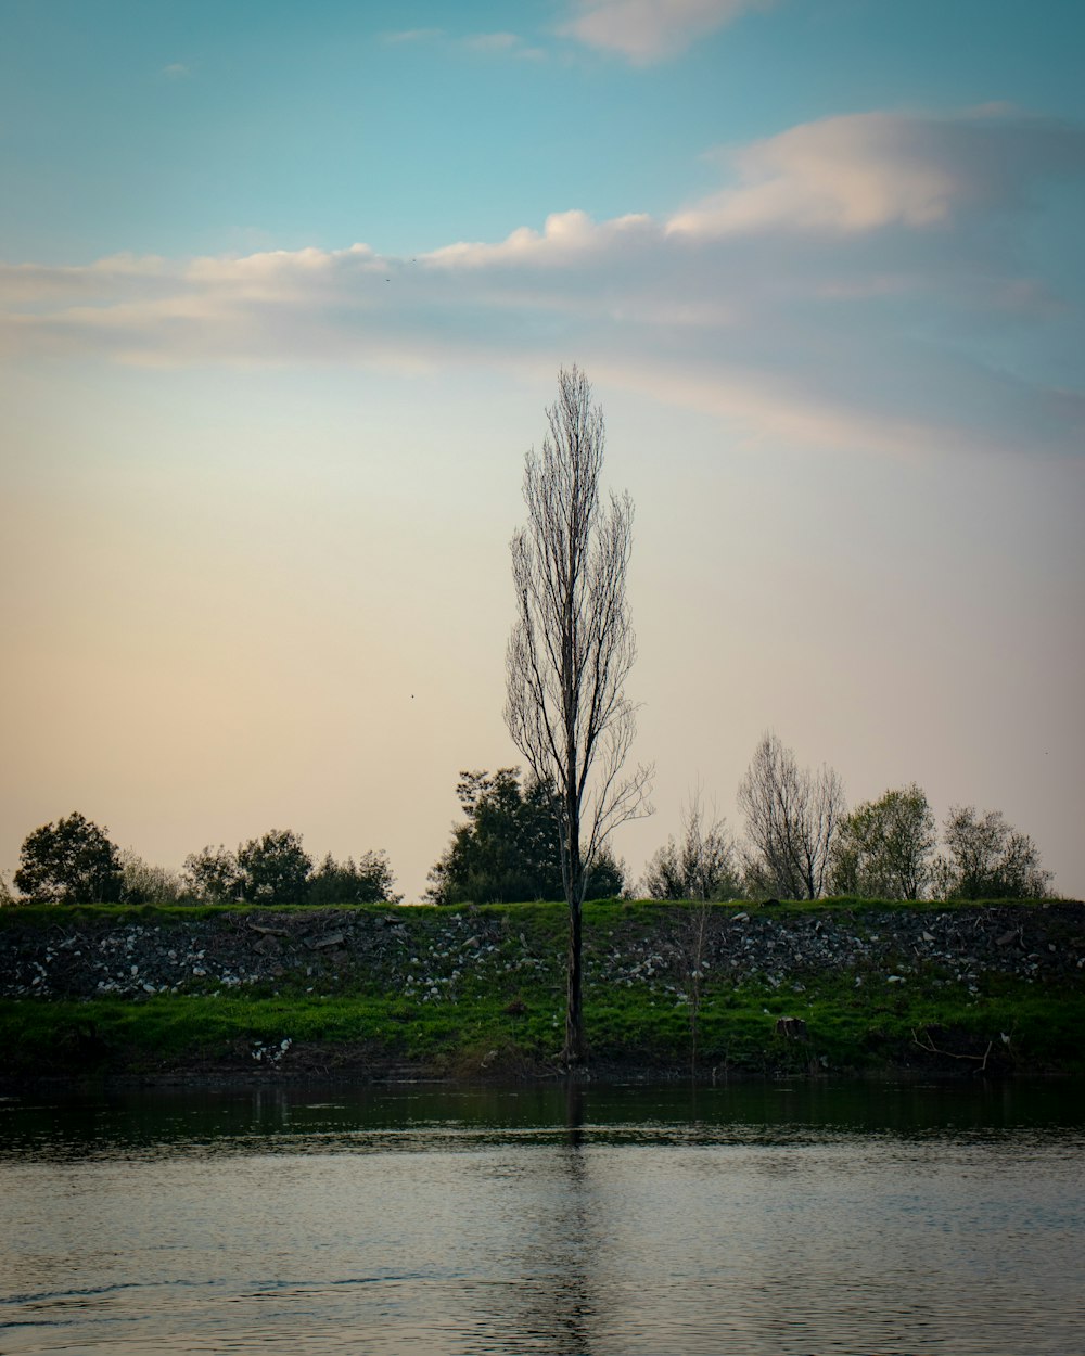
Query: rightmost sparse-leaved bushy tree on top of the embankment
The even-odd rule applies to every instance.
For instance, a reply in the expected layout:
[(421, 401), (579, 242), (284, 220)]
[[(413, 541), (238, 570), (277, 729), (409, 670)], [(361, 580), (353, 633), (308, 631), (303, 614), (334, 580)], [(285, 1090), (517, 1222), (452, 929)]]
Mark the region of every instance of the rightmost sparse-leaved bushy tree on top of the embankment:
[(979, 815), (974, 805), (953, 805), (943, 826), (945, 853), (934, 862), (934, 887), (943, 899), (1043, 899), (1051, 872), (1040, 850), (1001, 810)]

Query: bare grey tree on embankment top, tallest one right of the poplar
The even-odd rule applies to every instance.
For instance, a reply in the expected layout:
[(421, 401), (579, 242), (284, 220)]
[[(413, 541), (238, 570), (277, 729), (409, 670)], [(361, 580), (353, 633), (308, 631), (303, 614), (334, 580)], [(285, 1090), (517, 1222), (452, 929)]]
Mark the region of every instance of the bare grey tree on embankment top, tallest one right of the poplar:
[(751, 883), (783, 899), (816, 899), (848, 810), (837, 773), (825, 763), (799, 767), (792, 750), (765, 734), (739, 782), (738, 804)]

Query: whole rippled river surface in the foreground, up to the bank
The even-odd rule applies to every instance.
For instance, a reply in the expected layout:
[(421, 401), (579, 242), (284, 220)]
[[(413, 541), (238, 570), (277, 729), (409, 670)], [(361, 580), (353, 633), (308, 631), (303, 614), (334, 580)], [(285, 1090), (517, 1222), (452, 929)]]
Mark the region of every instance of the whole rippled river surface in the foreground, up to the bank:
[(0, 1101), (0, 1356), (1085, 1353), (1085, 1096)]

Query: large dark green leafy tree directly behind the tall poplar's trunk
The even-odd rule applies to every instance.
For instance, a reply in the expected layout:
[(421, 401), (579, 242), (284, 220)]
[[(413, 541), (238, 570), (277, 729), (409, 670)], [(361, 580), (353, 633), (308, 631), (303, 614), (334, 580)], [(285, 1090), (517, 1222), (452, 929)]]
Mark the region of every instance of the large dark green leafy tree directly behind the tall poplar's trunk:
[[(518, 767), (462, 772), (456, 795), (467, 820), (452, 831), (448, 852), (430, 872), (429, 898), (439, 904), (561, 899), (557, 797), (534, 778), (521, 785)], [(604, 852), (590, 873), (594, 898), (620, 894), (621, 866)]]

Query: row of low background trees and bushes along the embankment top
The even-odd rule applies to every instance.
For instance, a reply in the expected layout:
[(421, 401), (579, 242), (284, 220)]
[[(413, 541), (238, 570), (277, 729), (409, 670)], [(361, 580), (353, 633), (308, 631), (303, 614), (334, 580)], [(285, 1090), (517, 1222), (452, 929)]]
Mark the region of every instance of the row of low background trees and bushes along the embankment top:
[[(564, 895), (557, 796), (518, 767), (464, 772), (462, 820), (429, 873), (434, 904), (518, 903)], [(941, 833), (917, 785), (886, 791), (848, 810), (829, 767), (799, 767), (766, 734), (738, 789), (746, 834), (694, 792), (681, 833), (650, 857), (640, 880), (604, 846), (585, 898), (643, 899), (1039, 899), (1051, 873), (1033, 839), (1001, 811), (953, 805)], [(385, 852), (315, 862), (301, 835), (273, 829), (240, 843), (191, 853), (168, 871), (110, 841), (71, 814), (27, 835), (5, 903), (362, 904), (403, 902)]]

